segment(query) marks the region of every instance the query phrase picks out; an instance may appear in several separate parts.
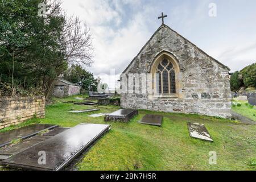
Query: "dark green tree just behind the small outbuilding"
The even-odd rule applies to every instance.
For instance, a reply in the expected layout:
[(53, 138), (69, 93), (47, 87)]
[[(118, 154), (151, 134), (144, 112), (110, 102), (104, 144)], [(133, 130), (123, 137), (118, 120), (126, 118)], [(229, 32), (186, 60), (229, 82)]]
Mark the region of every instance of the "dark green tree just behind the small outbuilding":
[(82, 89), (88, 91), (96, 91), (98, 82), (94, 78), (93, 73), (83, 69), (81, 65), (72, 65), (65, 73), (64, 79), (79, 84)]

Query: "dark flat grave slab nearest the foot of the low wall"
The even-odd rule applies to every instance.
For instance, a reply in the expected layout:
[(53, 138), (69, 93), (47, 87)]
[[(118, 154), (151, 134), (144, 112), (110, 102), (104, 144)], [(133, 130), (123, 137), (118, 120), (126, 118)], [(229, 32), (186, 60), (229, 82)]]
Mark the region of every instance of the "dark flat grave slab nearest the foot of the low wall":
[(0, 147), (10, 144), (14, 139), (26, 139), (44, 130), (50, 130), (55, 127), (57, 127), (57, 125), (34, 124), (0, 133)]

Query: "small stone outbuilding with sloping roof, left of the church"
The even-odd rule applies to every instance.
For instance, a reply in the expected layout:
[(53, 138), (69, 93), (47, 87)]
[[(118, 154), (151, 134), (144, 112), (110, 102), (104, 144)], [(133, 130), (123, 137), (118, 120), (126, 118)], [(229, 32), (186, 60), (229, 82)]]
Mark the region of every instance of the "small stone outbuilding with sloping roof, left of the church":
[(63, 78), (57, 78), (54, 82), (53, 96), (58, 98), (64, 98), (68, 96), (74, 96), (81, 93), (81, 86), (73, 84)]

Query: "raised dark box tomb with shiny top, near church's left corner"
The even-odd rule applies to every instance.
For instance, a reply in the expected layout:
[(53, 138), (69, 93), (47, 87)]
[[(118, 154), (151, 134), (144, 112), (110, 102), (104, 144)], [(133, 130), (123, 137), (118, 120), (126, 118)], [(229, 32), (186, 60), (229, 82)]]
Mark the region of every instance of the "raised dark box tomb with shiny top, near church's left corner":
[(120, 109), (114, 113), (105, 115), (104, 121), (122, 121), (129, 122), (131, 118), (138, 114), (137, 110), (134, 109)]

